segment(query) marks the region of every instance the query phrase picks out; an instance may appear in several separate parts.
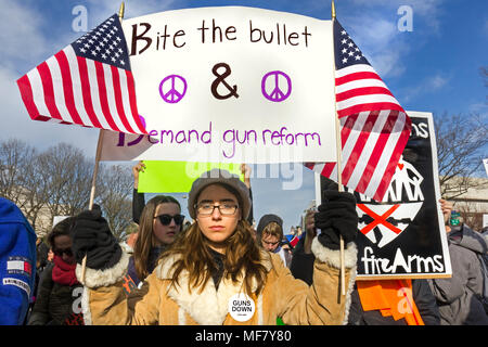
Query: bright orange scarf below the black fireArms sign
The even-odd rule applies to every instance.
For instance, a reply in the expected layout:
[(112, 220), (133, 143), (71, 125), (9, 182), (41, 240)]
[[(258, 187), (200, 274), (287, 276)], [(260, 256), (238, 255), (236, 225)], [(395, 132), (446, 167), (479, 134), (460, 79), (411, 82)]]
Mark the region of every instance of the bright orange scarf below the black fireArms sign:
[(364, 311), (380, 310), (383, 317), (403, 318), (409, 325), (424, 325), (412, 297), (411, 280), (357, 281)]

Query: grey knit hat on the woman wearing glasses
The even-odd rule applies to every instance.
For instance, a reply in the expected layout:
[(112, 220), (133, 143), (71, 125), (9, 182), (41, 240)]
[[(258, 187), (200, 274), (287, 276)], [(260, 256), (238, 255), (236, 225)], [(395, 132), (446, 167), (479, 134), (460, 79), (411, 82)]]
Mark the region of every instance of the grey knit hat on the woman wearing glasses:
[(236, 175), (218, 168), (202, 174), (202, 176), (193, 182), (188, 197), (188, 211), (190, 213), (190, 216), (193, 219), (196, 219), (195, 204), (200, 193), (208, 185), (215, 183), (228, 187), (230, 191), (236, 195), (239, 207), (242, 210), (242, 219), (247, 219), (251, 211), (249, 190)]

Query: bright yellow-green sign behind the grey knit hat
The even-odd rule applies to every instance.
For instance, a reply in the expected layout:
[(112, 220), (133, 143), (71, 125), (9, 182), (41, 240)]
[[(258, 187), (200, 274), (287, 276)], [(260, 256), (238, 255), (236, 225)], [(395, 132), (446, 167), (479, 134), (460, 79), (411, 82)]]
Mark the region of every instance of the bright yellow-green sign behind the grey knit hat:
[(216, 167), (242, 176), (241, 164), (144, 160), (144, 165), (145, 170), (139, 174), (139, 193), (190, 192), (195, 179)]

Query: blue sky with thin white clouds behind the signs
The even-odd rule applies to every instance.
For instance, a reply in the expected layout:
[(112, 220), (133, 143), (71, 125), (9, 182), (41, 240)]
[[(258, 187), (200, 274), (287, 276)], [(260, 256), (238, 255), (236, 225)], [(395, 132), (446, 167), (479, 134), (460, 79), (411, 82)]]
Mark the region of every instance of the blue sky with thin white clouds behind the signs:
[[(125, 3), (126, 18), (214, 5), (256, 7), (331, 18), (331, 2), (317, 0), (129, 0)], [(73, 14), (76, 7), (87, 10), (90, 29), (117, 12), (119, 4), (120, 1), (104, 0), (0, 0), (1, 140), (20, 138), (39, 149), (69, 142), (94, 157), (98, 130), (30, 120), (15, 81), (84, 34), (72, 27), (78, 14)], [(435, 116), (445, 112), (478, 113), (488, 123), (488, 89), (479, 73), (481, 66), (488, 66), (487, 1), (337, 0), (335, 4), (337, 18), (404, 110), (433, 112)], [(411, 10), (411, 30), (401, 31), (398, 27), (406, 14), (398, 13), (400, 7)], [(258, 168), (253, 169), (256, 172)], [(298, 223), (299, 215), (314, 198), (313, 175), (300, 169), (300, 189), (283, 190), (286, 170), (278, 171), (278, 178), (252, 179), (254, 214), (257, 220), (264, 214), (279, 214), (285, 221), (286, 233), (292, 224)]]

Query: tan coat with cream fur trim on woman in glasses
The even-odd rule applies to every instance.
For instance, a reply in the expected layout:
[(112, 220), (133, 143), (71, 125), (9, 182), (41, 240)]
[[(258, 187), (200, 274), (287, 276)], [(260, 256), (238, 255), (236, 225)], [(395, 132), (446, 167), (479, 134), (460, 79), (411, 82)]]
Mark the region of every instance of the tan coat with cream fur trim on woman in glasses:
[[(123, 291), (129, 254), (103, 271), (87, 269), (82, 310), (86, 324), (115, 325), (179, 325), (179, 324), (266, 324), (275, 325), (281, 317), (288, 325), (343, 324), (347, 322), (350, 292), (356, 278), (357, 249), (350, 243), (345, 250), (347, 294), (339, 298), (339, 252), (323, 247), (317, 237), (312, 242), (316, 256), (313, 284), (293, 278), (278, 255), (262, 252), (262, 265), (268, 271), (266, 284), (259, 295), (253, 288), (255, 303), (252, 318), (245, 322), (234, 320), (228, 311), (229, 299), (243, 291), (242, 280), (232, 283), (222, 278), (218, 290), (211, 279), (203, 291), (188, 290), (188, 275), (180, 275), (179, 286), (170, 286), (171, 265), (168, 258), (154, 269), (140, 291), (129, 297)], [(80, 266), (77, 277), (80, 279)], [(188, 274), (188, 273), (187, 273)]]

